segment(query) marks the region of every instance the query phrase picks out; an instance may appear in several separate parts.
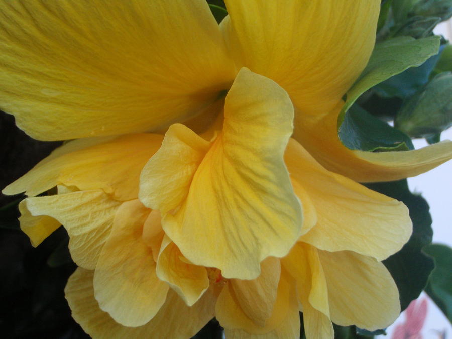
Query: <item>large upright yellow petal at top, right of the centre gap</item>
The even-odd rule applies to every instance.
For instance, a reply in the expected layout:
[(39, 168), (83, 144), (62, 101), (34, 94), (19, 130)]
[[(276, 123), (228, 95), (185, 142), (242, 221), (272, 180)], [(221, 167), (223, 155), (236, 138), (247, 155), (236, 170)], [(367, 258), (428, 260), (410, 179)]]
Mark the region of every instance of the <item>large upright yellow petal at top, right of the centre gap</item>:
[(225, 0), (237, 65), (275, 80), (305, 115), (333, 108), (367, 64), (379, 0)]

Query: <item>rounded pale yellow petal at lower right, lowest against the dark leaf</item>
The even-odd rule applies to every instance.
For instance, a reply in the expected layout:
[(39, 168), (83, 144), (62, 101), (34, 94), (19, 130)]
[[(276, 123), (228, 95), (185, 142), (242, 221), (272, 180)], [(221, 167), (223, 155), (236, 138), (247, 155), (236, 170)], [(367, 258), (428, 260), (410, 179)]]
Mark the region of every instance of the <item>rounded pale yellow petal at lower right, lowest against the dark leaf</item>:
[(349, 251), (318, 252), (328, 285), (332, 322), (373, 331), (397, 319), (399, 292), (382, 263)]

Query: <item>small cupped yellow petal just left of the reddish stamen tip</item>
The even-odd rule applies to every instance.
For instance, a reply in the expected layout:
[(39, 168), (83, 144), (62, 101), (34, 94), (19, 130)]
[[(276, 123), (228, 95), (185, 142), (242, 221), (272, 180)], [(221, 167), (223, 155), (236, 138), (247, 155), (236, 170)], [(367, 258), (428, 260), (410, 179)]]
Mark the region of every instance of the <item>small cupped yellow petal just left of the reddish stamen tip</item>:
[(165, 236), (157, 261), (159, 279), (170, 284), (174, 291), (192, 306), (209, 287), (207, 270), (203, 266), (188, 264), (177, 246)]

